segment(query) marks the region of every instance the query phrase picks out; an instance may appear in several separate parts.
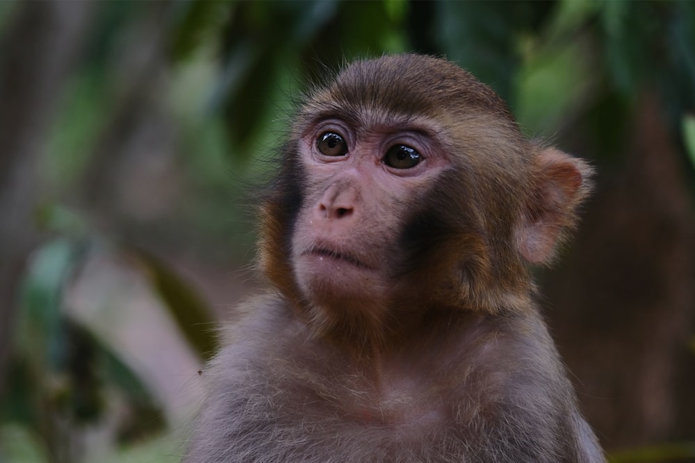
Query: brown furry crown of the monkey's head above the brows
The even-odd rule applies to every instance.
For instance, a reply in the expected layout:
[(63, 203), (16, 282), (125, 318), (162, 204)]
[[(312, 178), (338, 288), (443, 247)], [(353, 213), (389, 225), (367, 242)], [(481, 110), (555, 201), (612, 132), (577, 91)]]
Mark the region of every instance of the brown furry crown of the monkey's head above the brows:
[(400, 115), (477, 113), (514, 121), (497, 94), (470, 73), (447, 60), (414, 54), (352, 63), (308, 99), (310, 104), (329, 102)]

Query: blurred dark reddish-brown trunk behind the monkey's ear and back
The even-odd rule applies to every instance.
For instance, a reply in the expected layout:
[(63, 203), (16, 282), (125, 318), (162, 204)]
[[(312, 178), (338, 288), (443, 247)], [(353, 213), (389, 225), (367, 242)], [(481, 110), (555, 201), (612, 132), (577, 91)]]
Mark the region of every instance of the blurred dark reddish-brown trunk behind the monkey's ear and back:
[(641, 99), (630, 133), (619, 173), (600, 176), (573, 252), (545, 282), (560, 351), (611, 450), (695, 438), (695, 224), (685, 155), (653, 96)]

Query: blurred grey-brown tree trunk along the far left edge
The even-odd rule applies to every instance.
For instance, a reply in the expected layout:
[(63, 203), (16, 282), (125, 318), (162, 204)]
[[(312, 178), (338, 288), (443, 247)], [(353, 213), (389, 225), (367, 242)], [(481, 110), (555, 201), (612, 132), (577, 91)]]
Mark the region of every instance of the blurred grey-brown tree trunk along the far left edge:
[(40, 199), (40, 158), (56, 97), (83, 45), (92, 3), (25, 1), (15, 9), (0, 37), (0, 378), (19, 278), (38, 239), (32, 213)]

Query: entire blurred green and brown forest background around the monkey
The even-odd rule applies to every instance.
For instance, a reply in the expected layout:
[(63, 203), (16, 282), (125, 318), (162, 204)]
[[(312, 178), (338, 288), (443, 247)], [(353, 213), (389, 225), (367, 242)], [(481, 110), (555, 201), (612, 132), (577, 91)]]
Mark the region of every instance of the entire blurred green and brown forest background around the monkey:
[(446, 56), (596, 192), (543, 308), (614, 462), (695, 461), (695, 2), (0, 2), (0, 462), (177, 462), (307, 79)]

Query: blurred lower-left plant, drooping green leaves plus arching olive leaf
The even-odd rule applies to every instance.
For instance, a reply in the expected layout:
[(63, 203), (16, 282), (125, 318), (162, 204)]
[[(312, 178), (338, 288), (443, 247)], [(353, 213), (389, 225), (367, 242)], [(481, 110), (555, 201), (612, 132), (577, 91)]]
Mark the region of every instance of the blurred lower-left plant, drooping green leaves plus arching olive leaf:
[(0, 403), (0, 425), (22, 423), (37, 428), (40, 439), (24, 435), (22, 445), (7, 446), (3, 440), (11, 432), (21, 434), (21, 428), (0, 426), (0, 455), (22, 462), (29, 458), (23, 455), (45, 448), (50, 461), (72, 462), (71, 436), (104, 420), (108, 397), (114, 392), (137, 417), (123, 423), (118, 439), (140, 439), (165, 425), (161, 404), (117, 348), (65, 310), (65, 293), (79, 278), (86, 260), (106, 249), (124, 255), (149, 281), (190, 345), (204, 357), (215, 348), (208, 332), (211, 317), (197, 294), (153, 255), (90, 236), (79, 217), (64, 208), (45, 206), (38, 217), (42, 224), (67, 235), (37, 249), (29, 263), (8, 375), (11, 381), (6, 384), (6, 400)]

